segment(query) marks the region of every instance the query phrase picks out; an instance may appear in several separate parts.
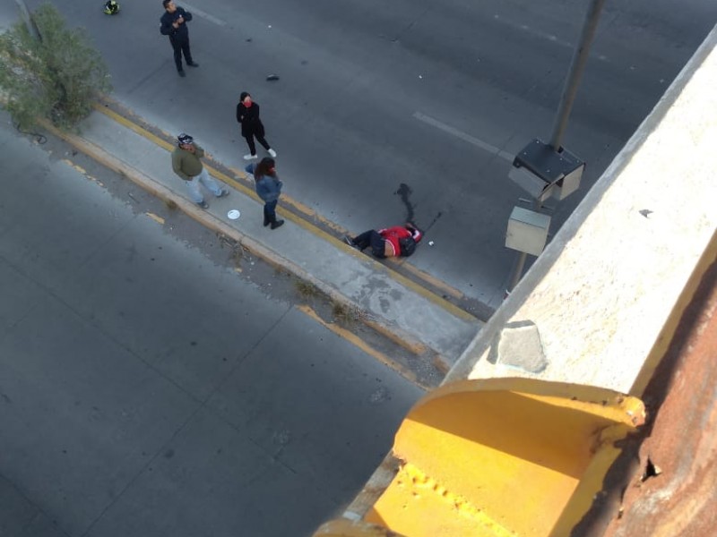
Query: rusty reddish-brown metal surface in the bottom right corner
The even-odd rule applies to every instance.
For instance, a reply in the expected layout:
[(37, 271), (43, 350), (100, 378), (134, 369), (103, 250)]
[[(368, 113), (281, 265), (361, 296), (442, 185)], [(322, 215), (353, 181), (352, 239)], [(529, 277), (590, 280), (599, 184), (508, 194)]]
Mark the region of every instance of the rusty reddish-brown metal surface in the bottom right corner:
[(704, 272), (627, 439), (575, 536), (714, 535), (717, 528), (717, 263)]

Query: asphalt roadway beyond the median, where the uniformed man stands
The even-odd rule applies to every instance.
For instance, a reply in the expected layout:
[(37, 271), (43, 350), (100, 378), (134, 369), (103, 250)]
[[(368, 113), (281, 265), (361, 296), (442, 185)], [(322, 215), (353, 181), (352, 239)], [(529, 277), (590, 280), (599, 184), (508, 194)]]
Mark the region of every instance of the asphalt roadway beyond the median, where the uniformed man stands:
[[(234, 107), (250, 91), (290, 196), (355, 232), (412, 214), (435, 247), (411, 262), (500, 303), (507, 219), (525, 196), (507, 179), (510, 156), (549, 139), (587, 2), (180, 2), (201, 64), (181, 80), (159, 0), (124, 2), (115, 17), (99, 0), (54, 4), (89, 30), (115, 97), (137, 114), (241, 166)], [(564, 141), (588, 167), (553, 232), (715, 22), (712, 0), (606, 4)], [(272, 73), (280, 80), (265, 81)]]

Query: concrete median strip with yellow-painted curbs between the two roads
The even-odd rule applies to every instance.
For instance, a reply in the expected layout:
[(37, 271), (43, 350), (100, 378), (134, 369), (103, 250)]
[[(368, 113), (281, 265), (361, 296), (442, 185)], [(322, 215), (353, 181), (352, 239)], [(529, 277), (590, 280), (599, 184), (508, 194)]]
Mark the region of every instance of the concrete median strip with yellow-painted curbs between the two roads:
[[(420, 277), (406, 277), (395, 271), (392, 268), (396, 266), (395, 260), (379, 262), (343, 243), (342, 230), (337, 226), (317, 225), (310, 211), (302, 211), (299, 204), (291, 200), (291, 192), (300, 185), (292, 183), (291, 177), (281, 175), (281, 154), (277, 165), (284, 192), (277, 213), (286, 224), (272, 231), (263, 227), (263, 203), (243, 172), (213, 162), (211, 157), (204, 158), (212, 176), (226, 183), (231, 193), (218, 200), (204, 191), (210, 208), (200, 209), (189, 200), (184, 182), (172, 172), (169, 151), (173, 149), (173, 140), (169, 134), (144, 128), (138, 118), (117, 113), (110, 107), (97, 108), (80, 125), (80, 135), (46, 127), (75, 149), (147, 191), (173, 200), (203, 225), (310, 282), (334, 302), (358, 308), (372, 328), (414, 353), (436, 354), (435, 362), (447, 371), (481, 328), (482, 323), (471, 314), (428, 291)], [(196, 143), (211, 155), (211, 147), (202, 140)], [(230, 220), (227, 217), (230, 209), (238, 209), (241, 216)], [(367, 228), (394, 224), (398, 223), (367, 223)], [(421, 245), (414, 255), (420, 255), (421, 247), (426, 246)], [(431, 284), (436, 287), (435, 281)]]

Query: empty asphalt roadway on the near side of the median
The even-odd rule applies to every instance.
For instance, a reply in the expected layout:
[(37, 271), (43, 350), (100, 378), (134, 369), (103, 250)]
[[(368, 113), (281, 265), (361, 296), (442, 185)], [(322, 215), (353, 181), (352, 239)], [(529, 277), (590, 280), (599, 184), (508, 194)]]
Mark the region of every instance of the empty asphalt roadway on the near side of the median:
[(419, 388), (131, 183), (5, 116), (0, 143), (0, 536), (305, 535), (337, 516)]

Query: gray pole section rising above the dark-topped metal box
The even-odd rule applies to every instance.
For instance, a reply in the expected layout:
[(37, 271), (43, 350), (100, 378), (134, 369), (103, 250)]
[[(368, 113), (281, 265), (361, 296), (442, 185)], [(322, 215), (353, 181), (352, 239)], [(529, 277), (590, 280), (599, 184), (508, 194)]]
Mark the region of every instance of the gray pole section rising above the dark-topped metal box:
[(575, 47), (573, 53), (573, 61), (570, 64), (570, 71), (566, 77), (566, 85), (563, 88), (563, 95), (560, 96), (560, 104), (557, 107), (557, 115), (555, 124), (553, 124), (553, 133), (550, 135), (549, 145), (556, 151), (560, 150), (563, 134), (566, 131), (567, 119), (570, 117), (570, 111), (573, 109), (577, 87), (580, 85), (580, 79), (585, 70), (585, 64), (588, 61), (592, 38), (595, 37), (595, 30), (598, 28), (600, 21), (600, 11), (605, 4), (605, 0), (592, 0), (588, 14), (583, 23), (583, 32), (580, 35), (578, 46)]

